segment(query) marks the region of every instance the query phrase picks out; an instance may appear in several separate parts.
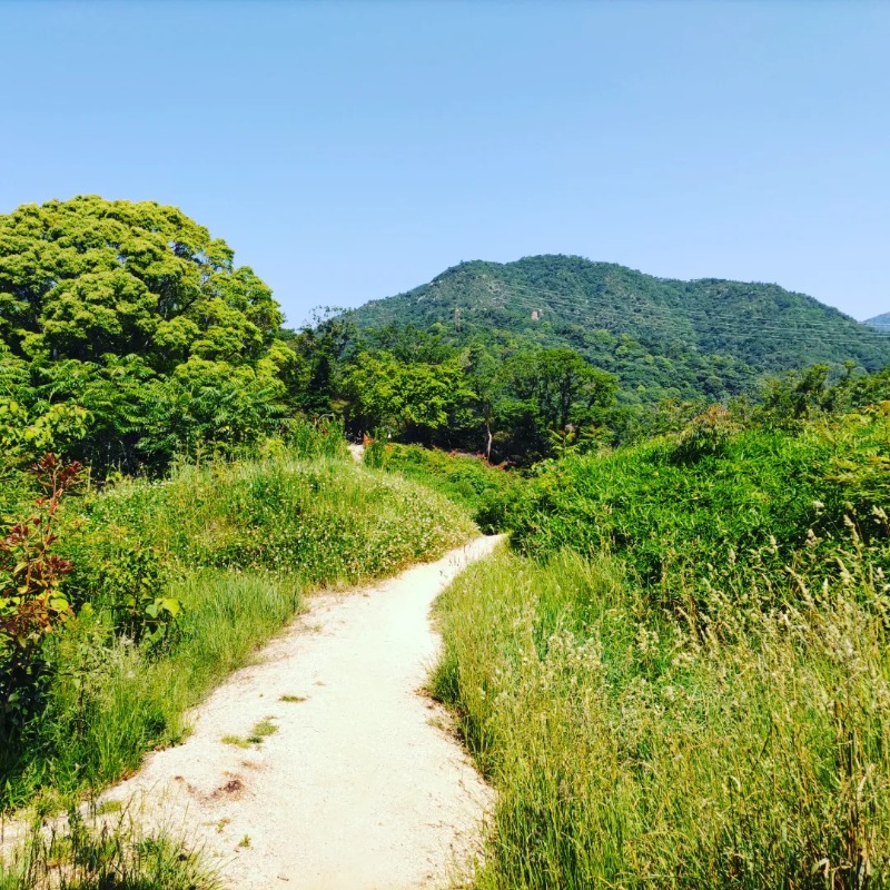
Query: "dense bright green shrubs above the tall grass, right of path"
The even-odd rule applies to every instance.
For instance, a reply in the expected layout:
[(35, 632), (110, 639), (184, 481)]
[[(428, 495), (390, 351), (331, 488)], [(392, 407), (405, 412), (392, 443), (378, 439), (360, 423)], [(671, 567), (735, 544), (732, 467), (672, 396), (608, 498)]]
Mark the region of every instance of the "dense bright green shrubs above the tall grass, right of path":
[[(797, 435), (733, 433), (725, 415), (704, 417), (680, 437), (542, 467), (510, 516), (515, 545), (535, 555), (562, 547), (613, 553), (673, 607), (681, 587), (706, 603), (728, 562), (778, 577), (792, 557), (803, 558), (794, 554), (828, 558), (847, 534), (851, 504), (862, 533), (879, 534), (871, 510), (883, 503), (861, 497), (857, 486), (880, 474), (882, 411)], [(852, 467), (854, 476), (844, 476)]]

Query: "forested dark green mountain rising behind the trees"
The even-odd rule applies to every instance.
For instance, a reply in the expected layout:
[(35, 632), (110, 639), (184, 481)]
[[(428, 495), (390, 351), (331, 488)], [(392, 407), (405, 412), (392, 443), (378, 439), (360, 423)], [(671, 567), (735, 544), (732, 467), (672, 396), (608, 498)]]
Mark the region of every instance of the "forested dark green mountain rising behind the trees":
[(483, 343), (504, 354), (567, 346), (617, 375), (625, 400), (725, 398), (815, 363), (890, 364), (890, 337), (778, 285), (656, 278), (611, 263), (545, 255), (473, 260), (350, 313)]

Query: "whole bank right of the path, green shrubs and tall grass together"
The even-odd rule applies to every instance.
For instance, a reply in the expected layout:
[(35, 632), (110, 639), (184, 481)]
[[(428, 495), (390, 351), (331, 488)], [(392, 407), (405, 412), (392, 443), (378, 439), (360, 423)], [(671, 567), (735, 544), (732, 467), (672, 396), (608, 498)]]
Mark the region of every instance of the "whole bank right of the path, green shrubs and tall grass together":
[(711, 432), (544, 469), (443, 597), (479, 890), (890, 881), (890, 417)]

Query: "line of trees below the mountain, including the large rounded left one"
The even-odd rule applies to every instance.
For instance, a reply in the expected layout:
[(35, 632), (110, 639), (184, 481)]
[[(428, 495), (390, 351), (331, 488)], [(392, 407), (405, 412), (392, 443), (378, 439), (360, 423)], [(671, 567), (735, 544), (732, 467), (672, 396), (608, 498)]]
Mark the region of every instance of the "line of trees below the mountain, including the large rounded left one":
[[(90, 196), (0, 217), (8, 465), (52, 451), (98, 476), (151, 475), (178, 456), (287, 441), (306, 419), (531, 465), (680, 428), (723, 392), (703, 383), (653, 400), (639, 367), (613, 373), (558, 343), (479, 325), (458, 338), (435, 324), (363, 329), (355, 314), (288, 330), (225, 241), (154, 202)], [(630, 355), (629, 344), (616, 348)], [(873, 385), (856, 363), (834, 367), (769, 384), (758, 409), (802, 415)]]

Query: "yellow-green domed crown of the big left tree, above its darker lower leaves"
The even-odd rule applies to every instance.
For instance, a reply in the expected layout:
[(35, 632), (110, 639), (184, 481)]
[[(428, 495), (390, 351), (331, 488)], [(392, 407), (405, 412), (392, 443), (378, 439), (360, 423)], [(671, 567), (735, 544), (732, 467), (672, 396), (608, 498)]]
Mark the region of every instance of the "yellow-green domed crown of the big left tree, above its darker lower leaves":
[(269, 287), (175, 207), (93, 195), (0, 217), (0, 336), (16, 355), (241, 364), (281, 320)]

